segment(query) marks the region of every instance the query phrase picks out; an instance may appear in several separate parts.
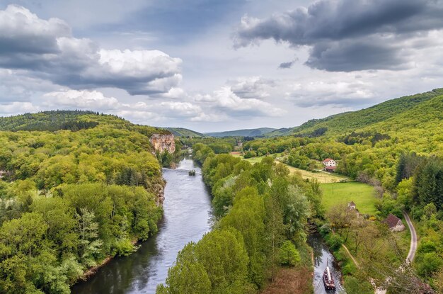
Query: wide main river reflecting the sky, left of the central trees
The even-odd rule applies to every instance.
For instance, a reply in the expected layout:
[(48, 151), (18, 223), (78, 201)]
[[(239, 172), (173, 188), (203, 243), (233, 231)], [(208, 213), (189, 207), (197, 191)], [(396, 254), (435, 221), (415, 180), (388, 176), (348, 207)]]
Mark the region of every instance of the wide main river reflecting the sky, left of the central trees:
[[(196, 176), (189, 176), (191, 169)], [(113, 259), (88, 281), (74, 285), (71, 293), (155, 293), (176, 261), (178, 251), (209, 232), (211, 198), (200, 168), (192, 159), (183, 159), (177, 169), (163, 169), (163, 178), (166, 187), (159, 233), (143, 242), (134, 254)]]

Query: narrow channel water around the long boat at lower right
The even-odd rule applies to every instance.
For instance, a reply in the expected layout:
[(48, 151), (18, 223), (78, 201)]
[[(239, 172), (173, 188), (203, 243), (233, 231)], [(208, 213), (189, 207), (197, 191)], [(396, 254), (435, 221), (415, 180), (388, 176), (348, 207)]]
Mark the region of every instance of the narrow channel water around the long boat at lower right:
[(328, 246), (323, 242), (320, 234), (311, 234), (308, 237), (308, 244), (313, 249), (313, 288), (315, 294), (326, 294), (323, 285), (323, 272), (325, 271), (326, 264), (328, 264), (331, 274), (335, 281), (335, 293), (345, 294), (345, 288), (341, 283), (342, 274), (340, 268), (335, 262), (334, 256), (330, 253)]

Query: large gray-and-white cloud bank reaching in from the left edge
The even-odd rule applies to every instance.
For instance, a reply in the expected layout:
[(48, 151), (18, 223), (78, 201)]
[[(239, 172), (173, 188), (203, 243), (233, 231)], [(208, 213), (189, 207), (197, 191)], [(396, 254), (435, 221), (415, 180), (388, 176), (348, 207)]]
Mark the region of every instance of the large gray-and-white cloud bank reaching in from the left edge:
[(182, 61), (164, 52), (103, 50), (72, 37), (64, 21), (42, 20), (21, 6), (8, 6), (0, 19), (0, 67), (74, 89), (115, 87), (132, 95), (167, 93), (181, 81)]

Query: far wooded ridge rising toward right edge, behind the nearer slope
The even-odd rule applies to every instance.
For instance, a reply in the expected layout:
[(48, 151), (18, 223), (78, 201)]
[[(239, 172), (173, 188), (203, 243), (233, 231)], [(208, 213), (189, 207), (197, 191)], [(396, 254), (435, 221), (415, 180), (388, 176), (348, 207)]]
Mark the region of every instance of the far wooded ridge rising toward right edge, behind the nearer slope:
[[(321, 132), (320, 135), (334, 135), (336, 133), (352, 132), (381, 123), (385, 120), (390, 120), (396, 115), (406, 113), (415, 108), (415, 106), (441, 95), (443, 95), (443, 89), (434, 89), (422, 94), (395, 98), (360, 111), (339, 113), (336, 115), (330, 115), (327, 118), (308, 120), (306, 123), (295, 128), (279, 129), (273, 132), (268, 132), (265, 137), (297, 134), (311, 135), (314, 132)], [(315, 137), (316, 135), (314, 134), (313, 136)]]

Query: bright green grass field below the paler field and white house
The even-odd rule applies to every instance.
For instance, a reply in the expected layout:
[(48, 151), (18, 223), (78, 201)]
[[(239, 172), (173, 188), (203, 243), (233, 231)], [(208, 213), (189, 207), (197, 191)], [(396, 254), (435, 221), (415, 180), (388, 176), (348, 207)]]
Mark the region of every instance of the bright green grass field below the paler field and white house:
[(321, 183), (320, 187), (326, 210), (338, 203), (354, 201), (360, 213), (374, 215), (376, 212), (374, 188), (366, 183)]

